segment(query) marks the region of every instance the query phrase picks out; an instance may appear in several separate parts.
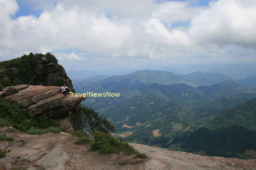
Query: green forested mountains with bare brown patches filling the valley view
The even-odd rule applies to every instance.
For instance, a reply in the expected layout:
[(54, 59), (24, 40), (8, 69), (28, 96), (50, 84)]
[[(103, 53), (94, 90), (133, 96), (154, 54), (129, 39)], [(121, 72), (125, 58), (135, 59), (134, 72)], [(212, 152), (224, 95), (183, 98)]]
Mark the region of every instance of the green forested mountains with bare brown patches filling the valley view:
[[(120, 92), (120, 97), (88, 97), (83, 103), (109, 118), (114, 135), (127, 141), (236, 157), (235, 152), (256, 150), (251, 137), (256, 134), (256, 90), (229, 79), (220, 73), (141, 70), (87, 81), (76, 91)], [(239, 142), (228, 140), (230, 135)]]

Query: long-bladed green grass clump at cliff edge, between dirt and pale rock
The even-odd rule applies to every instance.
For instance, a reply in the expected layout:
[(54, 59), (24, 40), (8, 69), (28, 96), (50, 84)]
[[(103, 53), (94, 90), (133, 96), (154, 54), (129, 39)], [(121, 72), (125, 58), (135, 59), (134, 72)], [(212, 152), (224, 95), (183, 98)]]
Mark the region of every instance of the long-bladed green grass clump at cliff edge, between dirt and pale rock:
[(146, 155), (139, 153), (133, 147), (131, 147), (127, 142), (123, 140), (118, 140), (111, 136), (110, 134), (96, 132), (94, 135), (94, 142), (91, 145), (93, 151), (98, 150), (103, 154), (112, 154), (124, 152), (126, 154), (135, 154), (140, 158), (147, 158)]

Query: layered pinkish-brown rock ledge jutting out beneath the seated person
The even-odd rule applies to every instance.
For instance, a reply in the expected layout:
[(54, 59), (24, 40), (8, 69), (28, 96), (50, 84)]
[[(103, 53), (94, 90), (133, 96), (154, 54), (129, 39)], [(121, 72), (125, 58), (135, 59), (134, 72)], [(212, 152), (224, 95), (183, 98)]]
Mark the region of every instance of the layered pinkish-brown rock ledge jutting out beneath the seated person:
[[(11, 90), (10, 90), (11, 89)], [(58, 119), (66, 132), (72, 130), (70, 114), (86, 97), (65, 97), (58, 86), (17, 85), (4, 88), (0, 96), (26, 109), (29, 115)]]

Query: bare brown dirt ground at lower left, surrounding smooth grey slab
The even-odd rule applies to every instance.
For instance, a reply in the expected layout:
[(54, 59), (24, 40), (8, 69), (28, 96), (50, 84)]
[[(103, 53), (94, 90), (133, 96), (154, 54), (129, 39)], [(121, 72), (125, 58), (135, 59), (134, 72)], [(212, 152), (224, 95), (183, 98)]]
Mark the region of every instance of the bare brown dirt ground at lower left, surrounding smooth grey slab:
[[(7, 156), (15, 158), (15, 164), (22, 164), (25, 167), (33, 167), (39, 159), (54, 149), (66, 152), (70, 157), (67, 163), (67, 170), (143, 170), (143, 162), (136, 163), (135, 155), (125, 154), (99, 154), (90, 151), (90, 146), (74, 144), (76, 136), (65, 133), (47, 134), (26, 134), (10, 133), (8, 128), (0, 129), (0, 134), (14, 138), (14, 141), (0, 141), (0, 148), (11, 149)], [(22, 159), (29, 158), (31, 162), (22, 163)], [(128, 165), (120, 165), (118, 162), (129, 159)], [(36, 167), (38, 168), (38, 167)]]

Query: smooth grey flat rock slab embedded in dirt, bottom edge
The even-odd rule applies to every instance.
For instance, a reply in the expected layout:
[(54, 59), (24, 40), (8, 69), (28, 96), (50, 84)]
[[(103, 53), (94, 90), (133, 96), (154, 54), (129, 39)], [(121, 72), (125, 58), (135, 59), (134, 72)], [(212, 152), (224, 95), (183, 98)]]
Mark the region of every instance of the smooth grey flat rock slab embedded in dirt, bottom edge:
[(65, 170), (68, 161), (70, 161), (70, 156), (66, 152), (54, 149), (35, 164), (46, 170)]

